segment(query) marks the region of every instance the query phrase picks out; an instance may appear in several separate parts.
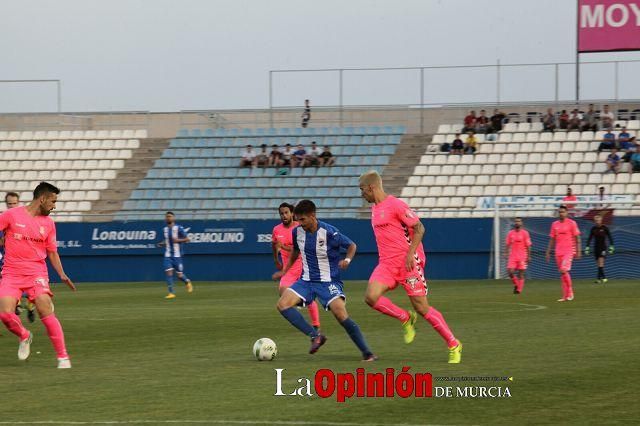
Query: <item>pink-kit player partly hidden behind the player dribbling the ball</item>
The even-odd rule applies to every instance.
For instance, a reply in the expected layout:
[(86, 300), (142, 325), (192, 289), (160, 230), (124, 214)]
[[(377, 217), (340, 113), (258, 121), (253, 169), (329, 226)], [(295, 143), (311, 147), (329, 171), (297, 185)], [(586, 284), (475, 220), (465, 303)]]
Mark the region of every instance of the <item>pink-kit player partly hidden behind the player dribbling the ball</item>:
[[(273, 262), (276, 264), (276, 269), (282, 270), (284, 266), (289, 262), (289, 256), (293, 251), (293, 229), (299, 225), (298, 222), (293, 220), (294, 207), (288, 203), (280, 204), (278, 207), (278, 213), (280, 214), (280, 223), (273, 228), (271, 234), (271, 248), (273, 250)], [(278, 258), (280, 255), (280, 259)], [(299, 257), (291, 269), (287, 271), (285, 275), (280, 278), (280, 286), (278, 291), (280, 296), (284, 291), (291, 287), (293, 283), (300, 279), (302, 275), (302, 257)], [(313, 301), (308, 306), (309, 318), (311, 319), (311, 325), (317, 330), (320, 329), (320, 313), (318, 312), (318, 304)]]

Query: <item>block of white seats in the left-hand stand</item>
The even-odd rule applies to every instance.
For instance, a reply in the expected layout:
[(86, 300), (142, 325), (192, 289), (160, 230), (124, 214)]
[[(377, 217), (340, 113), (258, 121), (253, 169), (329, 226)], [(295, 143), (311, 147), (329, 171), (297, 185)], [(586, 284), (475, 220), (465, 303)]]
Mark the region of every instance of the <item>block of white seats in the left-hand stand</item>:
[(0, 190), (24, 202), (40, 181), (52, 182), (63, 189), (56, 220), (80, 220), (146, 137), (146, 130), (0, 131)]

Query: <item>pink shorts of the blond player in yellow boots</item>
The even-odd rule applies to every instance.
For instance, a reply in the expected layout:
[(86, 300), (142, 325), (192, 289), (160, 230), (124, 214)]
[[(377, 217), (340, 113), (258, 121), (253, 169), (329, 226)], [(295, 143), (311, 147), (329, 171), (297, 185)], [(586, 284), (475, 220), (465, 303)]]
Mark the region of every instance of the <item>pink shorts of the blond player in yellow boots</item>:
[(373, 270), (369, 282), (379, 282), (389, 290), (395, 289), (399, 284), (404, 287), (407, 296), (426, 296), (429, 293), (427, 279), (424, 277), (425, 259), (416, 256), (413, 269), (407, 272), (404, 260), (401, 263), (380, 263)]

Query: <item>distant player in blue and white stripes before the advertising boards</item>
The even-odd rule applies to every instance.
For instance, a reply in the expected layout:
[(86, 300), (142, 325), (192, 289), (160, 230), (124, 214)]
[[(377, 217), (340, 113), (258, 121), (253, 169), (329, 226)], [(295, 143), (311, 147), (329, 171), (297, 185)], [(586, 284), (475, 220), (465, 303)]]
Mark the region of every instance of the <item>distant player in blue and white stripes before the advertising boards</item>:
[(165, 226), (162, 230), (164, 241), (158, 243), (159, 247), (165, 247), (164, 250), (164, 271), (167, 278), (167, 288), (169, 294), (165, 296), (165, 299), (174, 299), (176, 294), (173, 291), (173, 272), (175, 271), (186, 285), (187, 292), (193, 292), (193, 284), (191, 280), (184, 273), (184, 264), (182, 258), (184, 251), (182, 244), (189, 242), (189, 237), (184, 228), (176, 224), (176, 215), (173, 212), (167, 212), (165, 214)]

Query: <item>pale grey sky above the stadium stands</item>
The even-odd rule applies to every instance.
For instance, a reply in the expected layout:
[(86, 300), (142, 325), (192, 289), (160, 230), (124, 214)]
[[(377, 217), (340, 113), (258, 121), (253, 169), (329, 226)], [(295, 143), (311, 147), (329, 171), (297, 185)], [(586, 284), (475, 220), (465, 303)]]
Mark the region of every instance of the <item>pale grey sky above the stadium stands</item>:
[[(65, 0), (3, 4), (0, 80), (60, 79), (64, 111), (264, 108), (270, 70), (573, 62), (573, 0)], [(640, 59), (639, 52), (582, 61)], [(559, 67), (572, 99), (574, 68)], [(619, 95), (639, 98), (640, 63)], [(582, 73), (613, 98), (613, 65)], [(416, 71), (347, 71), (345, 105), (417, 104)], [(505, 68), (503, 101), (552, 100), (553, 66)], [(337, 105), (338, 73), (276, 73), (275, 106)], [(425, 71), (425, 103), (495, 102), (495, 69)], [(53, 84), (0, 84), (0, 112), (55, 111)]]

